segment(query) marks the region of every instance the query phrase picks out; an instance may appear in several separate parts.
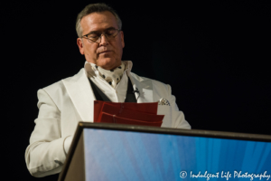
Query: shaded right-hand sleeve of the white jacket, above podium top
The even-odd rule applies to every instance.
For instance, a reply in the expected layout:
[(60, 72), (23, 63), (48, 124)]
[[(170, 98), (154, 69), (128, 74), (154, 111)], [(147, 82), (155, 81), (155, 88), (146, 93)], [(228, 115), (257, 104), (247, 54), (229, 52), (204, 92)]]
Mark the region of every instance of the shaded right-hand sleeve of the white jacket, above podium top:
[(179, 110), (175, 96), (172, 95), (171, 86), (167, 84), (167, 92), (169, 102), (172, 107), (172, 128), (175, 129), (191, 129), (190, 124), (184, 119), (184, 114)]

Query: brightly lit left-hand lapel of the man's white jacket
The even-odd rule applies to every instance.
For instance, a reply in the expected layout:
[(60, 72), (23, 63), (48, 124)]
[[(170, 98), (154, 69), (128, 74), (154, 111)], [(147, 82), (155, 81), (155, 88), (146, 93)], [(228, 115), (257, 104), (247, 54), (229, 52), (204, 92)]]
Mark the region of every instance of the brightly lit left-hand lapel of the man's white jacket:
[(84, 69), (70, 80), (62, 80), (79, 116), (83, 121), (93, 122), (95, 96), (90, 88), (88, 77)]

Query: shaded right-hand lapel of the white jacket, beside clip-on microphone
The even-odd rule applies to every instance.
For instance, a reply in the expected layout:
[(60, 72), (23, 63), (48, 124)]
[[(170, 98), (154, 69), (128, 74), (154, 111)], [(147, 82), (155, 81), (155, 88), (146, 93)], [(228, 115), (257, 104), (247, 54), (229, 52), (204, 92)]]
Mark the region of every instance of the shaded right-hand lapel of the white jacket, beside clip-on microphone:
[[(154, 102), (153, 96), (153, 83), (151, 80), (143, 80), (134, 73), (128, 73), (130, 77), (134, 90), (139, 90), (139, 93), (135, 92), (135, 99), (138, 98), (137, 103), (142, 102)], [(138, 97), (139, 96), (139, 97)]]

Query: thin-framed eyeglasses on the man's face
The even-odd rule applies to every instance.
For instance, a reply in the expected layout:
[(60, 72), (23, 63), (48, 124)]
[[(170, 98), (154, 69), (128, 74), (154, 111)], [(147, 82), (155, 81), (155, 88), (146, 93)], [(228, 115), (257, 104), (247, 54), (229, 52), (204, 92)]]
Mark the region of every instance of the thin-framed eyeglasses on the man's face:
[(91, 32), (85, 35), (82, 35), (82, 38), (86, 38), (89, 40), (89, 43), (100, 43), (101, 41), (101, 35), (104, 34), (107, 37), (107, 41), (114, 41), (117, 34), (120, 32), (120, 30), (115, 28), (108, 28), (107, 30), (103, 32)]

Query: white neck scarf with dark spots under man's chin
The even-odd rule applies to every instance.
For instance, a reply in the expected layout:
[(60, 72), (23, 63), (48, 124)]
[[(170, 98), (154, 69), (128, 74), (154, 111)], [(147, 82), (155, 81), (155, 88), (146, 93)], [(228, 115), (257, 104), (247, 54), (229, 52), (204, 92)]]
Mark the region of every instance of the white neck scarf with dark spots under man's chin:
[[(123, 73), (125, 71), (126, 65), (124, 62), (121, 62), (121, 65), (119, 65), (116, 69), (107, 71), (96, 64), (94, 65), (96, 70), (96, 74), (102, 77), (105, 81), (107, 81), (114, 89), (117, 86), (117, 83), (121, 80)], [(93, 67), (94, 68), (94, 67)]]

